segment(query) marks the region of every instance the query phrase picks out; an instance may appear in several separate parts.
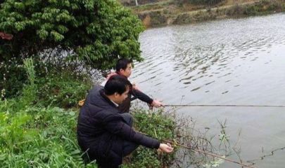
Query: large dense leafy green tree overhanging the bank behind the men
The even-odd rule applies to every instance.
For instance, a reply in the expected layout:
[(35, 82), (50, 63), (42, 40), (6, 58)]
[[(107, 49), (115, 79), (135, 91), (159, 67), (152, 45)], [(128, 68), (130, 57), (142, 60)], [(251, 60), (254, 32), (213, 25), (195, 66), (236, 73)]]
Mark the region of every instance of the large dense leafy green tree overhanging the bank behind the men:
[[(94, 69), (110, 69), (118, 57), (141, 61), (141, 21), (112, 0), (5, 0), (0, 3), (0, 59), (37, 57), (46, 50), (68, 53)], [(62, 55), (53, 55), (62, 57)]]

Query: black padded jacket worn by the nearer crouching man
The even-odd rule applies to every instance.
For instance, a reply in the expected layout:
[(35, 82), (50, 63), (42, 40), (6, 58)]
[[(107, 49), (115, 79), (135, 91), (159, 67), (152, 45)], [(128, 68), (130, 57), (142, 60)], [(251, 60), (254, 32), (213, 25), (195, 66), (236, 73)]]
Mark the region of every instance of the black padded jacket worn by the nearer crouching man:
[(110, 167), (122, 164), (123, 141), (133, 141), (148, 148), (159, 148), (160, 145), (156, 139), (132, 130), (99, 85), (92, 88), (80, 109), (77, 139), (91, 160), (108, 162)]

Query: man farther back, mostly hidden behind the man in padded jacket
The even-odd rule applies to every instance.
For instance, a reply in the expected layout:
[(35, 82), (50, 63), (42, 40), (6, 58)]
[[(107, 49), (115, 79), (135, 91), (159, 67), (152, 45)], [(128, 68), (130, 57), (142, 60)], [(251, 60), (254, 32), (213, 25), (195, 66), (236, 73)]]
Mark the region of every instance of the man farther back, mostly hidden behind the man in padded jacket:
[[(116, 64), (115, 73), (110, 73), (107, 77), (107, 80), (108, 78), (110, 78), (110, 76), (114, 75), (120, 75), (124, 76), (125, 78), (129, 78), (131, 74), (132, 74), (132, 61), (130, 61), (129, 59), (121, 58), (118, 60)], [(105, 85), (105, 83), (106, 81), (104, 81), (101, 85)], [(129, 113), (131, 101), (134, 99), (140, 99), (141, 101), (146, 102), (151, 107), (163, 106), (163, 104), (160, 101), (151, 99), (151, 97), (148, 97), (148, 95), (141, 92), (139, 88), (137, 88), (133, 84), (132, 90), (129, 90), (129, 93), (127, 94), (127, 98), (118, 107), (121, 113)]]

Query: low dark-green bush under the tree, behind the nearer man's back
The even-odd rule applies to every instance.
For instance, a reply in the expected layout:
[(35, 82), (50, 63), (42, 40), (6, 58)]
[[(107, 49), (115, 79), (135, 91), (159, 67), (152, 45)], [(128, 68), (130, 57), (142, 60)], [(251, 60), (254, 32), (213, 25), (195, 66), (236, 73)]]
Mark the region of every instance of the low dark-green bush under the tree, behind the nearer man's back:
[(74, 75), (70, 71), (51, 72), (44, 78), (39, 78), (37, 92), (39, 104), (42, 106), (59, 106), (70, 108), (77, 106), (91, 89), (92, 81), (85, 75)]

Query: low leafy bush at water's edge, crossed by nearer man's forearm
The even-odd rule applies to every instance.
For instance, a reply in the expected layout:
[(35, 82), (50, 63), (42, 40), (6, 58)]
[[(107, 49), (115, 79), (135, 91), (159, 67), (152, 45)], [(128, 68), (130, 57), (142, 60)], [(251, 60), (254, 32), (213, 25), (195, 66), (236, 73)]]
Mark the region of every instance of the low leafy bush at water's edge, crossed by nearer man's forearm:
[[(175, 139), (175, 120), (172, 116), (164, 115), (162, 110), (153, 113), (152, 111), (134, 109), (132, 115), (136, 130), (160, 141)], [(132, 162), (127, 162), (124, 167), (168, 167), (173, 162), (174, 155), (175, 153), (161, 154), (156, 150), (141, 146), (132, 153)]]

